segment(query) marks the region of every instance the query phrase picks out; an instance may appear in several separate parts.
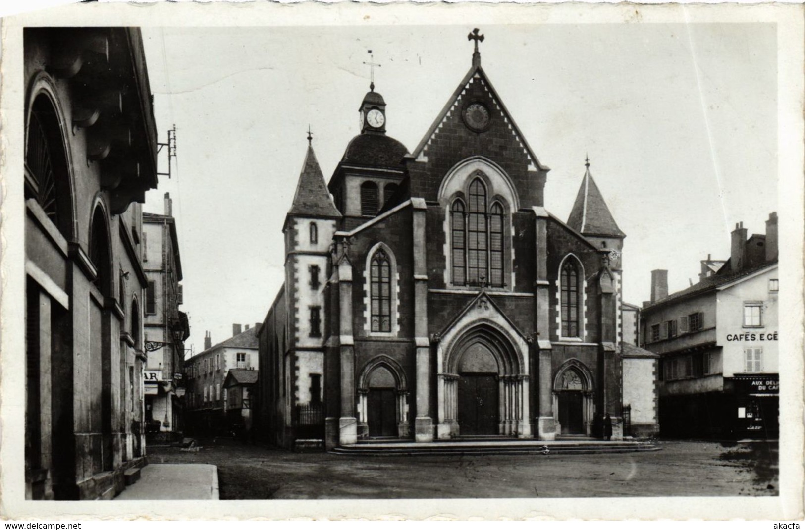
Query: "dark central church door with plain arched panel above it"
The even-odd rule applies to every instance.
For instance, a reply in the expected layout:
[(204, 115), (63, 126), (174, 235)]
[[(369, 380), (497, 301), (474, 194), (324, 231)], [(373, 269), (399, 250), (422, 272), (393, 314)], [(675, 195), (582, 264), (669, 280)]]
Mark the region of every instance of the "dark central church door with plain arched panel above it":
[(458, 363), (458, 424), (462, 435), (499, 433), (497, 361), (480, 342), (469, 346)]

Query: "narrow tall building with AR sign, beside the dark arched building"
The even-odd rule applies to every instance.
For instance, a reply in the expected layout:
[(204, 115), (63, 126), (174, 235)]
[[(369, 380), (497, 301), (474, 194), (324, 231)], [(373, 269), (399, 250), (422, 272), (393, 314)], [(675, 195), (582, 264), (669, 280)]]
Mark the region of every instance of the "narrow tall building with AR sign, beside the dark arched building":
[(183, 303), (182, 260), (171, 196), (164, 213), (142, 214), (142, 265), (148, 279), (145, 304), (146, 429), (148, 441), (182, 437), (184, 341), (190, 336)]

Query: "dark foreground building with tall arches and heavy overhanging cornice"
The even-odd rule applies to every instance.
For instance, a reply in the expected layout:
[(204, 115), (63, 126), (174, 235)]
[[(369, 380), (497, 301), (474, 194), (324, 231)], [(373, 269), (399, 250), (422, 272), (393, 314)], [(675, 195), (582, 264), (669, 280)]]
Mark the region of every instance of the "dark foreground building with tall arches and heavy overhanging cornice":
[(25, 28), (23, 44), (26, 497), (109, 499), (145, 457), (138, 203), (157, 172), (142, 36)]

